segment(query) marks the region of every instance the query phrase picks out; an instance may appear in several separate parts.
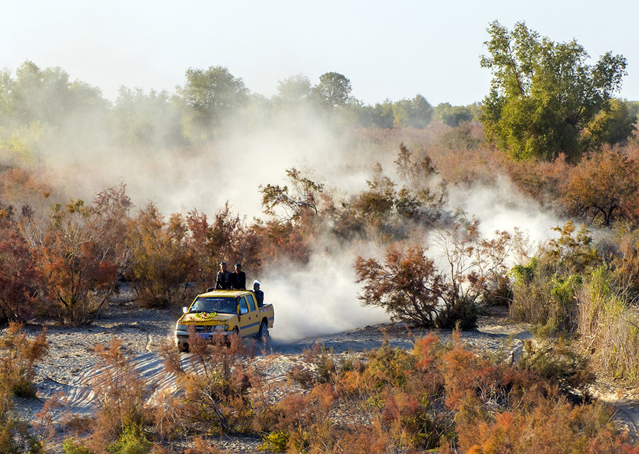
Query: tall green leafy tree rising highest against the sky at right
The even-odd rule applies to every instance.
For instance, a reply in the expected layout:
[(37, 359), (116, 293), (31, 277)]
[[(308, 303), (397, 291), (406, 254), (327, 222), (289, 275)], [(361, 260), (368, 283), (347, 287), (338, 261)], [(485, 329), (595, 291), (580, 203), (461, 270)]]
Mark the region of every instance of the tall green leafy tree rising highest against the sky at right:
[(555, 43), (523, 22), (508, 31), (494, 21), (488, 34), (489, 55), (481, 58), (493, 73), (481, 117), (486, 137), (513, 158), (552, 161), (565, 153), (576, 161), (588, 145), (581, 131), (608, 109), (626, 75), (626, 58), (608, 52), (588, 65), (576, 40)]

